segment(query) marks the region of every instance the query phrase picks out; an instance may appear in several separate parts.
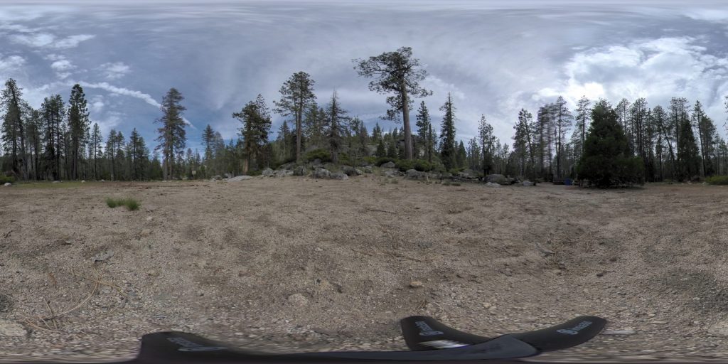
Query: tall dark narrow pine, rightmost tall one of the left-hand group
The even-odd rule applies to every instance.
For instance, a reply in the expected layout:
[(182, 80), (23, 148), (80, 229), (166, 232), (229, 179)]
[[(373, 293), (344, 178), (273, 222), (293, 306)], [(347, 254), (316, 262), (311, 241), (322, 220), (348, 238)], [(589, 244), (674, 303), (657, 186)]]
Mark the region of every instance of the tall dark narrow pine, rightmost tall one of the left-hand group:
[(68, 131), (71, 136), (71, 178), (79, 178), (79, 159), (83, 157), (85, 137), (89, 130), (89, 111), (86, 95), (79, 84), (71, 89), (68, 99)]

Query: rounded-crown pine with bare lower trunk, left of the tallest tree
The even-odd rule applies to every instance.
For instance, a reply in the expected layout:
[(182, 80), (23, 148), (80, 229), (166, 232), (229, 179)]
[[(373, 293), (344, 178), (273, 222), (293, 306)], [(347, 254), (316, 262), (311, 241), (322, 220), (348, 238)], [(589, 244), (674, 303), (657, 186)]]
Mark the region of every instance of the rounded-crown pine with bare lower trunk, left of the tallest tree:
[(296, 128), (296, 162), (301, 162), (302, 124), (306, 108), (314, 105), (314, 80), (306, 72), (296, 72), (280, 88), (280, 100), (273, 101), (274, 111), (282, 116), (293, 116)]

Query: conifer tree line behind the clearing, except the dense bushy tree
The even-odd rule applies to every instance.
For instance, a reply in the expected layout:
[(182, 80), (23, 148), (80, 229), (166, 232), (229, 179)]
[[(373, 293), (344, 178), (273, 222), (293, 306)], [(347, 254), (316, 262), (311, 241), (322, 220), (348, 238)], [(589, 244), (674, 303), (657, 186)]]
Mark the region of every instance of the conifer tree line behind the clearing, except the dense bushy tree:
[[(385, 131), (377, 123), (371, 132), (350, 115), (336, 92), (323, 103), (315, 82), (300, 71), (280, 88), (269, 105), (262, 95), (232, 113), (239, 122), (237, 138), (224, 140), (208, 124), (202, 131), (202, 151), (186, 147), (183, 96), (171, 88), (162, 98), (161, 116), (154, 120), (157, 145), (152, 150), (136, 129), (128, 138), (112, 129), (101, 135), (90, 122), (82, 87), (74, 85), (66, 102), (60, 95), (33, 109), (23, 100), (15, 80), (1, 93), (4, 111), (0, 167), (22, 180), (106, 179), (141, 181), (210, 178), (214, 175), (258, 173), (264, 167), (321, 159), (344, 165), (369, 165), (385, 160), (419, 170), (488, 175), (500, 173), (553, 181), (579, 178), (579, 160), (593, 119), (592, 101), (582, 97), (573, 111), (566, 100), (521, 109), (515, 116), (513, 143), (500, 141), (486, 116), (478, 120), (474, 138), (456, 135), (457, 108), (451, 95), (439, 106), (441, 120), (432, 120), (424, 100), (410, 122), (414, 99), (432, 96), (419, 83), (427, 77), (411, 48), (402, 47), (366, 59), (353, 60), (355, 71), (371, 79), (369, 89), (386, 95), (389, 109), (381, 119), (401, 126)], [(604, 106), (605, 100), (596, 104)], [(726, 99), (728, 108), (728, 98)], [(606, 106), (604, 106), (606, 107)], [(649, 108), (644, 98), (609, 104), (626, 138), (625, 154), (637, 157), (646, 181), (685, 181), (728, 173), (728, 147), (715, 122), (696, 101), (673, 98), (665, 108)], [(272, 134), (272, 114), (284, 117)]]

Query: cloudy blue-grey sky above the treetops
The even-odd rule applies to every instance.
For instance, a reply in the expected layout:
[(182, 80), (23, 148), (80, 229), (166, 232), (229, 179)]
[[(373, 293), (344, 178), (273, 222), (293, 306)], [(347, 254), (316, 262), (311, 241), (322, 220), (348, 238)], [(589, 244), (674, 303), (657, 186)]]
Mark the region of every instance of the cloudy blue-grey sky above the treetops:
[[(485, 115), (510, 142), (521, 108), (535, 115), (559, 95), (572, 109), (582, 95), (700, 100), (725, 135), (727, 38), (721, 1), (2, 1), (0, 79), (36, 108), (79, 83), (105, 136), (135, 127), (150, 146), (175, 87), (194, 149), (207, 124), (236, 138), (232, 113), (258, 93), (272, 106), (297, 71), (320, 103), (336, 90), (369, 130), (400, 127), (381, 119), (386, 95), (352, 60), (406, 46), (428, 73), (435, 124), (453, 96), (459, 139)], [(273, 116), (277, 130), (285, 118)]]

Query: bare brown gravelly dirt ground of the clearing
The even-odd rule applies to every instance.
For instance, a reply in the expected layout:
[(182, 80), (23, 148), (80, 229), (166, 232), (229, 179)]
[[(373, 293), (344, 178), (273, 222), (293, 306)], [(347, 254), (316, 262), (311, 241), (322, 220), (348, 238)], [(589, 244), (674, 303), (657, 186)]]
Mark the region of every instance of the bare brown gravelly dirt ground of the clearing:
[(728, 188), (387, 181), (0, 187), (0, 323), (23, 330), (0, 362), (129, 358), (170, 330), (405, 349), (412, 314), (483, 336), (578, 314), (634, 331), (544, 359), (728, 358)]

